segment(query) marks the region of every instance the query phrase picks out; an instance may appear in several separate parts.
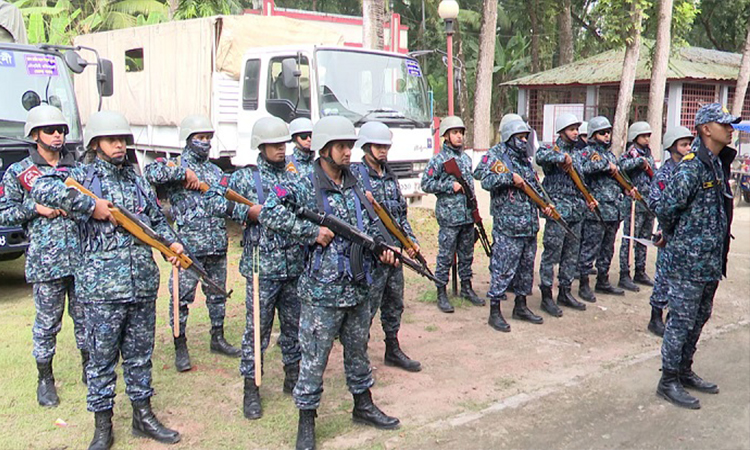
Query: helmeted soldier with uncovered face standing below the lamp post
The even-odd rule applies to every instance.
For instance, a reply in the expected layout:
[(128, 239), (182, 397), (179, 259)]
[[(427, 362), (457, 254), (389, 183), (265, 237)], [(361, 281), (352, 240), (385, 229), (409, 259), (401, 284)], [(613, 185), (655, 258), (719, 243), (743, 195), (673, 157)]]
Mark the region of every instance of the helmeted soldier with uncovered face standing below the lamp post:
[(470, 189), (474, 189), (471, 174), (471, 158), (463, 151), (466, 127), (460, 117), (449, 116), (440, 122), (440, 135), (444, 138), (443, 149), (430, 159), (422, 174), (422, 190), (437, 196), (435, 216), (438, 226), (438, 256), (435, 277), (441, 281), (437, 287), (437, 305), (440, 311), (452, 313), (453, 305), (448, 300), (445, 286), (453, 255), (458, 256), (458, 276), (461, 279), (461, 296), (476, 306), (485, 302), (477, 296), (471, 286), (471, 264), (474, 262), (475, 231), (471, 211), (466, 204), (461, 185), (445, 172), (443, 163), (455, 159), (461, 175)]

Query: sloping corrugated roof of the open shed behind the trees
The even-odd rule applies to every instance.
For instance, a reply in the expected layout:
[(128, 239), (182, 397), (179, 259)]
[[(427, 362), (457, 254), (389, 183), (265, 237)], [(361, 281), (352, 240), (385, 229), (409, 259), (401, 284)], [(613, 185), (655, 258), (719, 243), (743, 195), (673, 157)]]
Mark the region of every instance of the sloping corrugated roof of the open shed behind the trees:
[[(653, 44), (641, 46), (636, 81), (651, 79)], [(503, 83), (503, 86), (569, 86), (619, 83), (625, 49), (610, 50), (587, 59)], [(675, 49), (669, 58), (668, 80), (736, 80), (742, 55), (700, 47)]]

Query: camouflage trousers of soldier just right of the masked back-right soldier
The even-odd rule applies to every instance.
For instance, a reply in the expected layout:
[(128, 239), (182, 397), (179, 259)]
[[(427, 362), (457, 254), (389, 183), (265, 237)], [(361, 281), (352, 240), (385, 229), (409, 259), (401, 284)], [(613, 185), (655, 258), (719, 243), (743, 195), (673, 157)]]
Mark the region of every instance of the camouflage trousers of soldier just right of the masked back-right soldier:
[(581, 221), (568, 223), (576, 235), (574, 239), (557, 222), (552, 219), (546, 220), (544, 237), (542, 238), (544, 251), (542, 252), (542, 261), (539, 264), (541, 286), (552, 287), (556, 264), (558, 265), (558, 284), (561, 287), (570, 287), (573, 283), (573, 278), (577, 275), (578, 270), (582, 223)]

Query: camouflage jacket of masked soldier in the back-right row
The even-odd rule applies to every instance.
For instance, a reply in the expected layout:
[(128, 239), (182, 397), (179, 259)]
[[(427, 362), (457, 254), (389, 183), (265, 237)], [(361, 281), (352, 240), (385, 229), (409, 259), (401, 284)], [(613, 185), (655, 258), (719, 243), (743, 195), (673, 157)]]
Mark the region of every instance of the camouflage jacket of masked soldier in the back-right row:
[(506, 144), (497, 144), (487, 151), (474, 169), (474, 178), (490, 191), (493, 229), (510, 237), (535, 236), (539, 231), (538, 207), (513, 185), (513, 173), (540, 190), (536, 173), (526, 149), (518, 151)]

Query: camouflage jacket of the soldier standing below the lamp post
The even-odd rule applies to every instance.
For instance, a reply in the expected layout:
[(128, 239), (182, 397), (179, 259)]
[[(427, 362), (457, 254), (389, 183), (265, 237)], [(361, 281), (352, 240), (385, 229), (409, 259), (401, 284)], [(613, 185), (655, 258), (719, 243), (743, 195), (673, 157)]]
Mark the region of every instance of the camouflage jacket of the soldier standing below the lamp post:
[(428, 194), (437, 196), (435, 204), (435, 216), (438, 225), (457, 227), (473, 223), (471, 211), (466, 206), (466, 196), (463, 192), (453, 192), (453, 182), (456, 181), (452, 175), (448, 175), (443, 168), (443, 163), (455, 158), (461, 175), (468, 183), (472, 192), (474, 180), (471, 176), (471, 158), (463, 152), (463, 149), (454, 148), (443, 143), (443, 149), (427, 163), (422, 174), (422, 190)]

